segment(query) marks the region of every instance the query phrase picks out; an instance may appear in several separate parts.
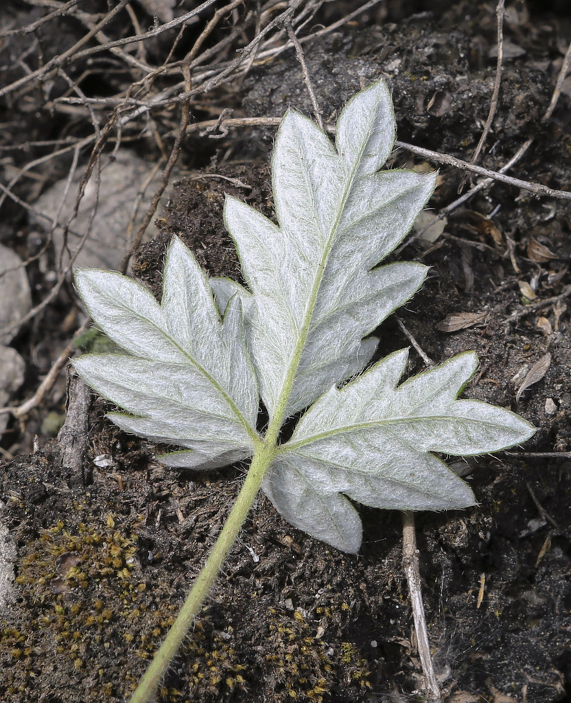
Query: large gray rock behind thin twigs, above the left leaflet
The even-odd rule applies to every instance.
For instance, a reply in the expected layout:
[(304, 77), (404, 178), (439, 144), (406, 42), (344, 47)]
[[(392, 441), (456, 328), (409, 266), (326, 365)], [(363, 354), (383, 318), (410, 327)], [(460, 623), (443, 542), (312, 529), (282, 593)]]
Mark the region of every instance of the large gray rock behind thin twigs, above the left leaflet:
[[(97, 188), (97, 179), (94, 173), (87, 183), (77, 217), (70, 224), (67, 247), (63, 256), (64, 266), (70, 261), (70, 256), (77, 251), (81, 237), (91, 225), (89, 237), (75, 260), (75, 268), (118, 269), (123, 257), (129, 251), (127, 227), (134, 208), (136, 208), (136, 217), (134, 228), (131, 231), (132, 235), (139, 228), (150, 200), (160, 183), (161, 171), (159, 169), (146, 186), (143, 198), (137, 206), (139, 191), (153, 170), (153, 164), (139, 159), (127, 150), (117, 153), (115, 160), (105, 160), (106, 158), (103, 157), (99, 188)], [(84, 173), (84, 168), (77, 170), (59, 215), (58, 209), (65, 193), (66, 179), (58, 181), (46, 193), (43, 193), (34, 203), (35, 209), (51, 219), (56, 219), (57, 216), (58, 224), (65, 225), (73, 212), (77, 186)], [(93, 222), (91, 222), (92, 217)], [(50, 229), (50, 224), (46, 219), (34, 218), (32, 222), (44, 231)], [(145, 240), (156, 236), (157, 233), (158, 230), (151, 220)], [(63, 229), (61, 227), (54, 231), (53, 243), (59, 257), (63, 247)]]

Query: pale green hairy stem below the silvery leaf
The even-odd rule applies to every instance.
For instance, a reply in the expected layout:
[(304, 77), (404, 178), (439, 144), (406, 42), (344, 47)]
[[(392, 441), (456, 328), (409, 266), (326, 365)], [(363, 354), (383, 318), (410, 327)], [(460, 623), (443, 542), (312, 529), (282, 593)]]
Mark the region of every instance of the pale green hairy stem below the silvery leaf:
[(214, 579), (216, 579), (236, 536), (238, 536), (240, 528), (248, 516), (264, 476), (267, 474), (271, 461), (274, 458), (275, 449), (275, 438), (274, 441), (266, 441), (263, 444), (259, 444), (259, 448), (252, 459), (250, 470), (248, 470), (248, 475), (240, 489), (238, 498), (236, 498), (236, 503), (234, 503), (207, 562), (200, 574), (198, 574), (198, 578), (194, 582), (190, 593), (188, 593), (181, 612), (179, 612), (160, 649), (156, 652), (153, 662), (151, 662), (145, 675), (141, 678), (129, 703), (148, 703), (161, 678), (165, 675), (170, 662), (172, 662), (174, 655), (186, 637), (186, 633), (193, 624)]

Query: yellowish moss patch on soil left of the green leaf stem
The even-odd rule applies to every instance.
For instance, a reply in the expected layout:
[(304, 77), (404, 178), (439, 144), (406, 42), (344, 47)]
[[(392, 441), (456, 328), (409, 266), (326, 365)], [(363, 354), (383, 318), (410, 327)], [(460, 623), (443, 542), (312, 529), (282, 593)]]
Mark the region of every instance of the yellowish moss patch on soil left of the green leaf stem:
[(134, 577), (140, 524), (141, 518), (126, 520), (112, 513), (90, 524), (70, 517), (27, 539), (15, 579), (15, 621), (4, 619), (0, 630), (0, 699), (37, 686), (46, 667), (60, 671), (66, 682), (89, 673), (96, 683), (82, 690), (86, 703), (101, 700), (101, 692), (105, 697), (126, 693), (117, 690), (109, 659), (123, 657), (125, 663), (126, 642), (139, 657), (152, 656), (177, 608), (155, 602), (141, 573)]

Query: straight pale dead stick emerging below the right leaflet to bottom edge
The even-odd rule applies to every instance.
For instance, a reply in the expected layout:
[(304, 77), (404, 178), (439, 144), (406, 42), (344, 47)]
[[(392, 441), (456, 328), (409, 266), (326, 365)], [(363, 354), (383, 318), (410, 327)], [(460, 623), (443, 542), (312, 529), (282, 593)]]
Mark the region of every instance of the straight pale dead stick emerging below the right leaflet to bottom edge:
[(436, 680), (430, 645), (428, 644), (428, 630), (424, 615), (423, 595), (421, 588), (421, 570), (418, 567), (418, 550), (416, 549), (416, 533), (414, 531), (414, 515), (411, 510), (402, 513), (402, 567), (406, 574), (411, 594), (414, 630), (418, 645), (418, 655), (421, 657), (421, 666), (425, 678), (428, 699), (433, 702), (442, 700), (440, 685)]

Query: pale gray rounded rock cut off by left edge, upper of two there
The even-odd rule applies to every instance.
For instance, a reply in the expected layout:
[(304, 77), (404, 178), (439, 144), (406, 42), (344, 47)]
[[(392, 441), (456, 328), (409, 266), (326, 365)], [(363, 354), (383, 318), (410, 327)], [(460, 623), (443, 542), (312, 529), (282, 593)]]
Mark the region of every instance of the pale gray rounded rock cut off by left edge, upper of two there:
[(18, 328), (4, 333), (2, 330), (21, 320), (31, 308), (30, 284), (22, 259), (0, 244), (0, 344), (9, 344), (18, 333)]

